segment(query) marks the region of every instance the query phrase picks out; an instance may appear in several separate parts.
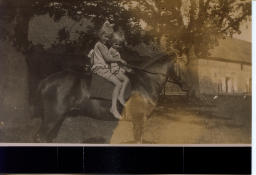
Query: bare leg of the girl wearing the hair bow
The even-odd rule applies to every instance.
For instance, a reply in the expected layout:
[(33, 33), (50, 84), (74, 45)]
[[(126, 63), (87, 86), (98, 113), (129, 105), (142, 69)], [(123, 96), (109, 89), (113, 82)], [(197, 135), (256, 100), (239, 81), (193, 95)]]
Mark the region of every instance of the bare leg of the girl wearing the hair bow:
[(115, 84), (115, 88), (113, 90), (113, 95), (112, 95), (112, 106), (111, 106), (110, 112), (115, 116), (115, 118), (118, 118), (121, 120), (122, 117), (117, 111), (116, 102), (117, 102), (120, 89), (122, 88), (122, 83), (114, 75), (112, 75), (108, 80)]

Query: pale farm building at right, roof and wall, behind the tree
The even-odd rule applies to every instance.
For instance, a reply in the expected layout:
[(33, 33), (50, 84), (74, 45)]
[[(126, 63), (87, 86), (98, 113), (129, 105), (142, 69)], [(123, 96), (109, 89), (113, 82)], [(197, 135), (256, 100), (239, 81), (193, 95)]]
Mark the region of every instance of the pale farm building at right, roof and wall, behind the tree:
[[(164, 43), (164, 38), (161, 39)], [(152, 56), (165, 52), (162, 45), (143, 45)], [(210, 49), (208, 57), (199, 58), (199, 84), (201, 94), (251, 93), (252, 44), (236, 38), (219, 40), (219, 46)], [(184, 93), (180, 87), (166, 83), (166, 94)]]

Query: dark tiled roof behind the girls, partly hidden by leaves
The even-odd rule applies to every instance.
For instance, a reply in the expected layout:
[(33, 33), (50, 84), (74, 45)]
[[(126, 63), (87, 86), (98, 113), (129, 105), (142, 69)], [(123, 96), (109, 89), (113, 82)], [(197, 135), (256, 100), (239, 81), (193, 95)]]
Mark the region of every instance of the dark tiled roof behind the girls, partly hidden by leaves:
[[(52, 44), (58, 37), (58, 31), (63, 27), (67, 27), (67, 30), (71, 29), (70, 39), (76, 40), (79, 37), (79, 34), (76, 33), (76, 31), (86, 31), (88, 25), (93, 25), (93, 23), (90, 21), (91, 20), (83, 19), (76, 23), (74, 20), (68, 17), (63, 17), (60, 21), (54, 22), (54, 20), (49, 17), (48, 14), (36, 16), (33, 17), (29, 22), (28, 40), (31, 40), (32, 43), (37, 46), (36, 49), (39, 52), (47, 50), (48, 52), (64, 53), (66, 50), (64, 46), (56, 49), (55, 51), (51, 49)], [(127, 48), (137, 52), (137, 54), (134, 55), (134, 53), (129, 52), (130, 55), (127, 54), (126, 59), (143, 61), (143, 57), (152, 56), (142, 45), (127, 46)], [(89, 51), (90, 49), (85, 51), (76, 50), (74, 54), (87, 55)]]

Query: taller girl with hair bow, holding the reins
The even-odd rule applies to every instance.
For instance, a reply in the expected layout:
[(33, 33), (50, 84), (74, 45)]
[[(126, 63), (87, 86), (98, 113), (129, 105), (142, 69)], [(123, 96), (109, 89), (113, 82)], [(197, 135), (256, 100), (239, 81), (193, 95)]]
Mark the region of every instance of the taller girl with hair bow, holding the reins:
[(110, 112), (115, 116), (115, 118), (122, 119), (116, 107), (116, 102), (120, 89), (122, 88), (122, 83), (116, 78), (116, 76), (111, 73), (109, 65), (106, 63), (121, 63), (122, 65), (126, 65), (125, 60), (108, 56), (108, 48), (105, 45), (111, 40), (113, 36), (113, 25), (114, 24), (110, 25), (109, 22), (106, 21), (99, 30), (99, 41), (94, 46), (94, 51), (91, 55), (91, 62), (93, 60), (91, 72), (107, 79), (115, 85), (115, 88), (113, 89), (112, 106)]

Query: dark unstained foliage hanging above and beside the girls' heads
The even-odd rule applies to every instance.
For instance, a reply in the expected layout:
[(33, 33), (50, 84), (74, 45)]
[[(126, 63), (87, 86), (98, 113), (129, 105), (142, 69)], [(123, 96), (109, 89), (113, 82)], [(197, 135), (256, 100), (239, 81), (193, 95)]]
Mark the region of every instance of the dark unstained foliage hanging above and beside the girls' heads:
[[(55, 6), (54, 11), (51, 9), (52, 6)], [(35, 6), (35, 8), (38, 7)], [(124, 32), (129, 45), (135, 46), (143, 40), (140, 19), (133, 17), (132, 11), (125, 9), (120, 2), (79, 1), (74, 3), (72, 7), (70, 7), (70, 2), (62, 2), (49, 4), (48, 7), (45, 6), (45, 8), (50, 9), (49, 15), (54, 18), (55, 21), (60, 20), (62, 17), (69, 17), (81, 26), (83, 25), (81, 20), (84, 18), (91, 20), (93, 23), (93, 25), (87, 26), (86, 31), (76, 31), (76, 33), (79, 34), (77, 40), (71, 40), (71, 29), (64, 27), (58, 32), (58, 38), (55, 44), (52, 45), (53, 47), (65, 44), (69, 52), (73, 52), (76, 48), (92, 48), (99, 39), (97, 32), (106, 20), (110, 23), (115, 23), (115, 26), (113, 26), (114, 31), (122, 30), (122, 32)]]

